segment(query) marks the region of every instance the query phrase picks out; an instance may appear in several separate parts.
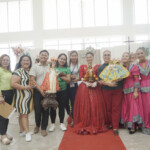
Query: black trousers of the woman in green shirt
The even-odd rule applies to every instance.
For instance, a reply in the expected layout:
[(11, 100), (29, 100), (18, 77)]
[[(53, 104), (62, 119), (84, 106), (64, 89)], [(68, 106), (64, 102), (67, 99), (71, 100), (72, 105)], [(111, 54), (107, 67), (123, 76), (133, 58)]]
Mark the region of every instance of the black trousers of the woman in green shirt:
[[(67, 100), (67, 90), (57, 92), (56, 100), (58, 101), (58, 108), (59, 108), (59, 119), (60, 123), (64, 122), (65, 117), (65, 107), (66, 107), (66, 100)], [(51, 122), (55, 123), (56, 120), (56, 110), (51, 108), (50, 110), (50, 118)]]

